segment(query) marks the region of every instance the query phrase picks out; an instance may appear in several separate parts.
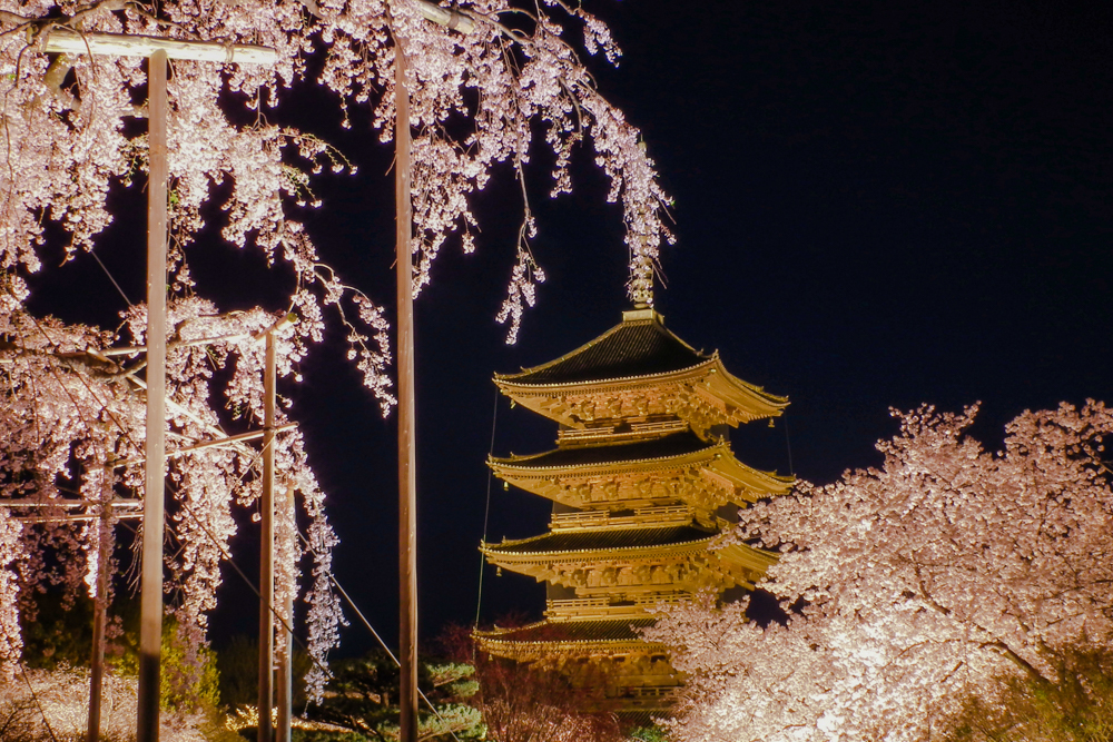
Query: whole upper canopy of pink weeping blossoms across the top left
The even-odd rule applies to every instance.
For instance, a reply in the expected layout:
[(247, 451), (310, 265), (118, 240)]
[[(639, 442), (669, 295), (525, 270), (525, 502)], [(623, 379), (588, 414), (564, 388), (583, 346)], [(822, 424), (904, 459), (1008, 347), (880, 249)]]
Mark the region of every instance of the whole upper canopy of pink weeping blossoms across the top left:
[[(579, 26), (589, 53), (602, 52), (617, 62), (619, 50), (605, 24), (562, 2), (523, 9), (505, 0), (477, 0), (453, 7), (466, 21), (453, 30), (422, 17), (418, 11), (430, 7), (423, 0), (177, 0), (157, 9), (129, 0), (57, 7), (41, 0), (0, 1), (0, 108), (6, 117), (0, 131), (6, 152), (6, 167), (0, 168), (0, 267), (38, 270), (48, 221), (67, 233), (70, 255), (91, 249), (114, 219), (106, 201), (109, 190), (130, 186), (147, 168), (141, 133), (146, 112), (135, 102), (146, 83), (142, 66), (130, 58), (42, 53), (51, 30), (63, 28), (276, 50), (273, 66), (174, 61), (168, 120), (171, 227), (175, 244), (187, 246), (206, 227), (203, 207), (221, 198), (223, 236), (292, 266), (293, 303), (319, 308), (341, 300), (331, 296), (335, 286), (326, 285), (316, 269), (317, 251), (289, 211), (319, 206), (311, 185), (316, 174), (353, 168), (312, 132), (270, 123), (280, 110), (266, 111), (305, 79), (306, 60), (317, 58), (323, 67), (316, 81), (337, 95), (345, 121), (353, 107), (366, 107), (381, 138), (390, 140), (394, 62), (401, 48), (408, 59), (412, 100), (415, 290), (429, 283), (434, 259), (450, 237), (455, 235), (465, 251), (474, 248), (477, 220), (470, 198), (499, 164), (513, 166), (524, 199), (524, 168), (534, 152), (539, 122), (544, 146), (555, 156), (553, 196), (571, 189), (573, 150), (591, 141), (594, 159), (610, 180), (608, 198), (622, 204), (630, 296), (651, 304), (659, 248), (662, 240), (672, 239), (662, 222), (669, 198), (657, 182), (638, 130), (599, 95), (564, 38), (565, 24)], [(529, 228), (516, 251), (529, 253), (525, 234), (535, 227), (529, 204), (522, 207)], [(13, 278), (17, 294), (23, 290), (19, 270)], [(521, 281), (542, 279), (541, 271), (523, 279), (514, 270), (500, 315), (511, 324), (512, 335), (521, 311), (508, 307), (528, 304)], [(312, 327), (302, 332), (315, 338)], [(368, 385), (388, 405), (381, 378), (388, 355), (385, 345), (376, 345), (359, 353), (371, 369), (365, 370)]]

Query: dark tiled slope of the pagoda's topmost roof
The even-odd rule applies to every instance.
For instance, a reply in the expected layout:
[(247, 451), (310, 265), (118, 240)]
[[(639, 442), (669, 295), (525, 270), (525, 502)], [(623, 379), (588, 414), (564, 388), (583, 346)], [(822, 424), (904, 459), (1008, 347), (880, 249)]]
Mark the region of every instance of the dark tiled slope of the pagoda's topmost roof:
[(656, 319), (627, 320), (556, 360), (495, 378), (515, 384), (574, 384), (667, 374), (710, 357)]

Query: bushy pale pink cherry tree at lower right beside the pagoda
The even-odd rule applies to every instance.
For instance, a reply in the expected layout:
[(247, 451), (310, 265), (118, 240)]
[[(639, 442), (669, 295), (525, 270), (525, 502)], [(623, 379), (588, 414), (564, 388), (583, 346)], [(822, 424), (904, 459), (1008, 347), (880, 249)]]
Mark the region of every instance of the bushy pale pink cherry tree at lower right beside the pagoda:
[(741, 512), (737, 537), (781, 552), (760, 587), (788, 624), (662, 611), (650, 635), (690, 679), (677, 740), (925, 740), (1002, 675), (1050, 685), (1067, 647), (1110, 649), (1113, 410), (1026, 412), (998, 453), (975, 413), (895, 412), (880, 468)]

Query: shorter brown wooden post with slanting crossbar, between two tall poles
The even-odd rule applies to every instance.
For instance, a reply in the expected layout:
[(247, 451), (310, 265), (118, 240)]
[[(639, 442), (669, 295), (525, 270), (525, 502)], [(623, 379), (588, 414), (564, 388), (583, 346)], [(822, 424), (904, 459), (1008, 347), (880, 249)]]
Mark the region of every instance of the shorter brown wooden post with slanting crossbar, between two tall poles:
[(275, 632), (272, 609), (275, 602), (275, 335), (267, 332), (266, 369), (263, 373), (263, 497), (262, 543), (259, 545), (259, 733), (258, 742), (272, 742), (274, 729)]

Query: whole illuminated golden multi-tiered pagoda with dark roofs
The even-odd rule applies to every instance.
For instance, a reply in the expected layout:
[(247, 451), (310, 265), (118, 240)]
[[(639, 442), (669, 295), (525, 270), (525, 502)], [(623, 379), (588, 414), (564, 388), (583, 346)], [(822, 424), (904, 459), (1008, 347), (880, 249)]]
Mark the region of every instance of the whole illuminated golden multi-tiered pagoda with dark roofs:
[(649, 609), (710, 588), (751, 588), (774, 555), (718, 547), (738, 507), (787, 493), (791, 477), (739, 462), (727, 431), (788, 405), (693, 349), (653, 309), (518, 374), (495, 375), (518, 405), (560, 424), (556, 448), (491, 458), (503, 482), (553, 502), (549, 533), (483, 543), (500, 568), (546, 583), (545, 620), (477, 632), (495, 656), (555, 667), (608, 708), (660, 712), (681, 679), (642, 641)]

